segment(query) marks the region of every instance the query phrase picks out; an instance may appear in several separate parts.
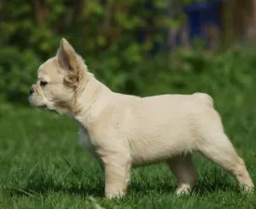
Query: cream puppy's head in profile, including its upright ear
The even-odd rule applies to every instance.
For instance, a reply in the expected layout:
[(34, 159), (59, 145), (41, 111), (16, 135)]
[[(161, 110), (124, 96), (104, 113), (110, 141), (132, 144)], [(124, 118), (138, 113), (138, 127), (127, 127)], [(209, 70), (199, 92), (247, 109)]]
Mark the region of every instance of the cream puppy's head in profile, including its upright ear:
[(38, 80), (30, 89), (30, 103), (38, 108), (68, 112), (87, 78), (84, 60), (62, 39), (57, 55), (39, 67)]

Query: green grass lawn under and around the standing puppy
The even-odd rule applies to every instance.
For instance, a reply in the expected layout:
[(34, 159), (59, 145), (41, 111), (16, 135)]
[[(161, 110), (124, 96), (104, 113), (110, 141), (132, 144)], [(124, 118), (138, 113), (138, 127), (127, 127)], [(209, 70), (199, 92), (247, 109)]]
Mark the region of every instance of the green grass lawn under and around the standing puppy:
[[(240, 105), (219, 98), (226, 133), (256, 179), (256, 111), (252, 97)], [(0, 208), (255, 208), (233, 176), (196, 155), (199, 181), (191, 196), (177, 197), (165, 164), (132, 171), (128, 195), (104, 198), (98, 164), (79, 147), (77, 129), (65, 116), (32, 107), (0, 105)], [(101, 207), (100, 207), (101, 205)]]

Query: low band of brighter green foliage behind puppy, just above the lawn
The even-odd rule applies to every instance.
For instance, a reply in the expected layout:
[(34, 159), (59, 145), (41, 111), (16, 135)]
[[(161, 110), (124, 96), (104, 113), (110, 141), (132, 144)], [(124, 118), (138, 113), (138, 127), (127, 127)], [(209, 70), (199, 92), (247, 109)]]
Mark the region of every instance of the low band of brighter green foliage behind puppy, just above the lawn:
[[(201, 91), (214, 97), (222, 87), (226, 97), (242, 100), (243, 90), (256, 87), (255, 50), (230, 49), (209, 55), (200, 49), (181, 50), (169, 57), (159, 54), (140, 61), (137, 61), (136, 48), (130, 52), (133, 56), (123, 53), (118, 61), (115, 50), (112, 46), (97, 58), (86, 58), (89, 71), (114, 91), (138, 96)], [(5, 79), (0, 80), (1, 98), (27, 102), (40, 64), (41, 60), (30, 50), (21, 52), (15, 47), (2, 48), (0, 77)]]

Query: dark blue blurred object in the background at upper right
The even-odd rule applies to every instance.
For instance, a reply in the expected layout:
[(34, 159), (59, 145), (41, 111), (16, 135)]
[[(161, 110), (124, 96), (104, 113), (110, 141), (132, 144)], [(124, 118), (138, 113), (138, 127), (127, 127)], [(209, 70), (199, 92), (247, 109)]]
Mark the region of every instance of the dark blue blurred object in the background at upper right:
[(221, 2), (196, 3), (183, 7), (188, 19), (188, 29), (190, 40), (199, 37), (205, 38), (204, 27), (215, 25), (222, 28), (221, 20)]

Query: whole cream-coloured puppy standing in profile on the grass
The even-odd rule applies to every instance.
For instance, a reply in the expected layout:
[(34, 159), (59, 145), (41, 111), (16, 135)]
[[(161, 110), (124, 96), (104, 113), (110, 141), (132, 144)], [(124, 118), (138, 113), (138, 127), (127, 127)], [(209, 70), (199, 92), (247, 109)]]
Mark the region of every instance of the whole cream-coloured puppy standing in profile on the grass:
[(196, 182), (196, 151), (236, 176), (242, 189), (253, 189), (207, 94), (140, 98), (115, 93), (88, 72), (65, 39), (56, 57), (40, 66), (30, 93), (34, 106), (70, 114), (78, 122), (82, 143), (104, 170), (109, 198), (125, 195), (132, 166), (157, 162), (168, 163), (178, 194), (189, 192)]

